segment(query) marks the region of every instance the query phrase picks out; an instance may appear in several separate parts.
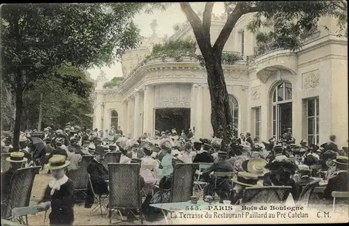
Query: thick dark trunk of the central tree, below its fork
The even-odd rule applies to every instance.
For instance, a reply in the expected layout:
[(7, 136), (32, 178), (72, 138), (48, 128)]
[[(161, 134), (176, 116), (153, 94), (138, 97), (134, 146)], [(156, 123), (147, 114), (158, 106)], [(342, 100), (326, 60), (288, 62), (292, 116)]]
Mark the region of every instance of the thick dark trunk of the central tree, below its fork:
[(225, 137), (225, 129), (232, 122), (232, 115), (228, 101), (228, 91), (225, 85), (224, 73), (221, 64), (221, 54), (214, 52), (210, 59), (205, 59), (207, 70), (207, 82), (211, 96), (211, 125), (214, 137)]

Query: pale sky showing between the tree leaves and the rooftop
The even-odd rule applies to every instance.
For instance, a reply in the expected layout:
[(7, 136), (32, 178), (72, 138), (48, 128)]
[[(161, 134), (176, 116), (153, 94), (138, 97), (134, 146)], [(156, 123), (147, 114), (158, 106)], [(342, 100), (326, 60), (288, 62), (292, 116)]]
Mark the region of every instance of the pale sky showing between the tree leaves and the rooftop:
[[(195, 2), (191, 3), (191, 7), (195, 11), (195, 13), (198, 13), (200, 11), (201, 13), (204, 12), (205, 9), (205, 2)], [(220, 15), (224, 12), (224, 6), (223, 2), (216, 2), (214, 4), (214, 9), (212, 11), (214, 14)], [(138, 25), (140, 28), (140, 35), (144, 37), (151, 36), (152, 30), (150, 27), (151, 21), (156, 20), (158, 27), (157, 27), (157, 35), (159, 37), (163, 37), (167, 35), (168, 37), (172, 36), (174, 33), (173, 26), (175, 24), (181, 24), (183, 22), (186, 22), (186, 17), (184, 13), (181, 11), (181, 8), (179, 6), (179, 3), (174, 3), (172, 6), (170, 6), (167, 10), (161, 11), (156, 10), (152, 14), (140, 14), (136, 15), (134, 18), (135, 24)], [(93, 68), (90, 70), (87, 70), (93, 79), (96, 79), (98, 75), (101, 73), (101, 70), (103, 70), (107, 74), (107, 79), (111, 80), (113, 77), (122, 77), (122, 70), (121, 70), (121, 63), (115, 62), (114, 65), (107, 67), (104, 66), (102, 68)]]

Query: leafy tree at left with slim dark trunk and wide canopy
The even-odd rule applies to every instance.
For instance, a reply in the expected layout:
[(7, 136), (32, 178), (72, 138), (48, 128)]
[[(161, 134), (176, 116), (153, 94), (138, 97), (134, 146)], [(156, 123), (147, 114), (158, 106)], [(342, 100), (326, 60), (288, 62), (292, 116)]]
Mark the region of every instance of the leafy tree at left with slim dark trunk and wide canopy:
[[(52, 72), (61, 66), (91, 68), (120, 59), (140, 43), (139, 29), (131, 19), (142, 8), (142, 3), (1, 5), (1, 75), (15, 97), (15, 150), (24, 91), (40, 78), (60, 77)], [(76, 77), (67, 75), (63, 81), (65, 87), (74, 86), (69, 89), (88, 96)]]

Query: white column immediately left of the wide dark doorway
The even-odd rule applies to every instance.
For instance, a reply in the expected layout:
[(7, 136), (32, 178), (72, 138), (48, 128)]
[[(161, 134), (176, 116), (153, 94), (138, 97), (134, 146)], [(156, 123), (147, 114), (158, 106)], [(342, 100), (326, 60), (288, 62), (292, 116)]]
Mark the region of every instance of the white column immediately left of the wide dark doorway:
[(143, 133), (154, 136), (154, 86), (144, 86)]

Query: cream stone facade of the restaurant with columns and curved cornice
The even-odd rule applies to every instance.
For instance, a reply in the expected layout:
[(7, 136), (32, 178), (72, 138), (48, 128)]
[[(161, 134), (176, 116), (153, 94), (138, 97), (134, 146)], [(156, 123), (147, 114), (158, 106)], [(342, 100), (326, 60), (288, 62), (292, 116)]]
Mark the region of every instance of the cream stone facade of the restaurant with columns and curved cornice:
[[(251, 132), (252, 137), (268, 140), (283, 125), (279, 106), (292, 103), (289, 117), (297, 141), (315, 139), (315, 143), (322, 144), (335, 134), (340, 147), (348, 146), (348, 40), (334, 34), (336, 20), (322, 18), (320, 25), (326, 25), (329, 31), (320, 27), (302, 50), (274, 50), (247, 63), (246, 56), (253, 55), (255, 47), (255, 36), (246, 30), (251, 16), (239, 20), (225, 45), (225, 51), (242, 52), (239, 32), (244, 31), (244, 61), (223, 65), (228, 93), (238, 103), (235, 118), (239, 133)], [(213, 42), (223, 24), (212, 22)], [(172, 38), (193, 38), (193, 33), (187, 24)], [(138, 52), (127, 54), (134, 58)], [(140, 48), (140, 55), (144, 55), (144, 47)], [(130, 72), (133, 66), (135, 59), (124, 57), (123, 70)], [(274, 102), (273, 93), (280, 84), (292, 85), (292, 94), (285, 100), (289, 89), (283, 94), (280, 89), (283, 100)], [(195, 137), (209, 138), (213, 133), (207, 73), (198, 61), (189, 57), (182, 57), (180, 62), (151, 60), (126, 74), (117, 89), (96, 89), (95, 94), (94, 128), (109, 129), (111, 112), (116, 110), (118, 125), (125, 135), (153, 135), (154, 109), (182, 107), (191, 109), (190, 127), (195, 127)], [(315, 107), (309, 110), (308, 105)], [(281, 113), (273, 113), (273, 106)], [(255, 114), (260, 115), (259, 119)], [(280, 119), (276, 119), (278, 116)]]

